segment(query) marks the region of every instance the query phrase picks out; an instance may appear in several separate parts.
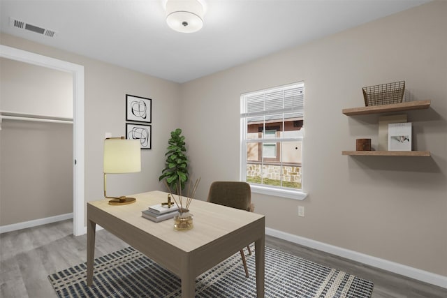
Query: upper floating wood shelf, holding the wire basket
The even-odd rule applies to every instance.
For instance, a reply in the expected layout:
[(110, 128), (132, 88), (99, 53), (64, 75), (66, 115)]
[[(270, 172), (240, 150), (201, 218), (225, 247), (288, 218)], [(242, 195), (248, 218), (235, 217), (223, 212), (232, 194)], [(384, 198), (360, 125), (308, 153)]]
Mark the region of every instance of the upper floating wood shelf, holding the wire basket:
[(386, 112), (400, 112), (408, 110), (423, 110), (430, 107), (431, 100), (417, 100), (406, 103), (393, 103), (390, 105), (372, 105), (369, 107), (352, 107), (343, 109), (342, 112), (346, 116), (377, 114)]

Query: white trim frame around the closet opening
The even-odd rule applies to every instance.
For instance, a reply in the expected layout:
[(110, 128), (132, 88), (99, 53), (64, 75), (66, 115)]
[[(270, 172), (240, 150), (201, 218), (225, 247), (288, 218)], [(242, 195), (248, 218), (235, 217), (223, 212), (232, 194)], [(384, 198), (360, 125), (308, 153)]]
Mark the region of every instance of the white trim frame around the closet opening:
[(71, 73), (73, 76), (73, 234), (85, 234), (84, 66), (0, 45), (0, 57)]

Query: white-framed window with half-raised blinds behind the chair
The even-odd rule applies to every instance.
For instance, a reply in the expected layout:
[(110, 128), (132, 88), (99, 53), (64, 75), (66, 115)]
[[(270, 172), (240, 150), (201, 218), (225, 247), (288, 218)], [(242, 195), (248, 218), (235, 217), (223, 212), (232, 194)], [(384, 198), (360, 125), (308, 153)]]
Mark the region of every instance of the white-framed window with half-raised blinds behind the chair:
[(241, 179), (252, 191), (302, 200), (304, 82), (241, 96)]

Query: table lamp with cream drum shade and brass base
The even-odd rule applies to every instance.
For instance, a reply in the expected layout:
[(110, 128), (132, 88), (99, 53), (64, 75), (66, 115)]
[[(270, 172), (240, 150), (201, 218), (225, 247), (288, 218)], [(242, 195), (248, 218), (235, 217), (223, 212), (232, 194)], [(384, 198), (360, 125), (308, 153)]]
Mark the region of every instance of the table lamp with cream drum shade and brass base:
[(124, 137), (110, 137), (104, 140), (104, 197), (112, 199), (111, 205), (135, 202), (135, 198), (108, 197), (107, 174), (124, 174), (141, 171), (140, 140), (126, 140)]

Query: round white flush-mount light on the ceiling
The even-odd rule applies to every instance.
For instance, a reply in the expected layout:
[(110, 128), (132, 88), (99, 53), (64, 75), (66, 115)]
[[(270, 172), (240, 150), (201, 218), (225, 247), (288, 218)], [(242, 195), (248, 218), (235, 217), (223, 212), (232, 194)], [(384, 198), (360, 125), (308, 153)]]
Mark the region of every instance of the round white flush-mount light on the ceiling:
[(203, 27), (205, 8), (199, 0), (166, 0), (166, 22), (179, 32), (192, 33)]

